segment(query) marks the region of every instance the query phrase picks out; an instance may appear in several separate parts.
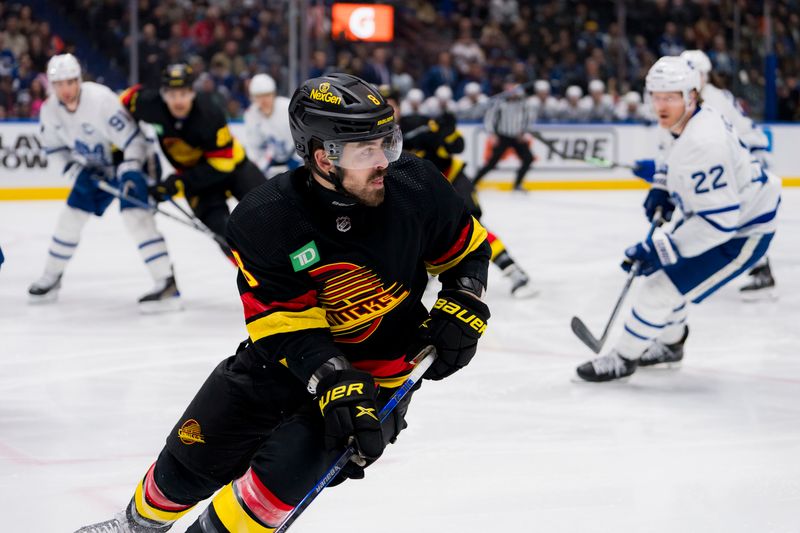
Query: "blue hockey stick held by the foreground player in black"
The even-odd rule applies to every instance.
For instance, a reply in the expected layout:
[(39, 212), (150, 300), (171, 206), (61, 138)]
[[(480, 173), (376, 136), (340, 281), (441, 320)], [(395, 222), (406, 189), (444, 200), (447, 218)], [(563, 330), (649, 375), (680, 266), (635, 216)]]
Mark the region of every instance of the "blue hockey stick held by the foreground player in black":
[[(412, 387), (414, 387), (414, 385), (422, 378), (422, 375), (433, 364), (435, 359), (436, 348), (433, 346), (426, 346), (422, 349), (422, 351), (419, 352), (419, 354), (417, 354), (417, 356), (414, 358), (414, 361), (416, 361), (414, 370), (411, 371), (411, 374), (409, 374), (406, 381), (395, 391), (394, 394), (392, 394), (392, 397), (389, 398), (389, 401), (386, 402), (386, 405), (384, 405), (378, 413), (381, 423), (383, 423), (386, 418), (392, 414), (392, 411), (395, 407), (397, 407), (397, 404), (400, 403), (405, 395), (408, 394), (408, 391), (410, 391)], [(339, 456), (339, 459), (337, 459), (333, 466), (328, 469), (328, 471), (322, 476), (317, 484), (314, 485), (314, 488), (308, 491), (308, 493), (303, 497), (302, 500), (300, 500), (300, 503), (298, 503), (294, 509), (289, 511), (283, 521), (275, 528), (275, 533), (284, 533), (287, 529), (289, 529), (289, 526), (291, 526), (294, 521), (297, 520), (297, 518), (303, 513), (303, 511), (305, 511), (308, 506), (311, 505), (311, 502), (313, 502), (314, 499), (319, 496), (319, 493), (322, 492), (322, 490), (336, 478), (348, 461), (350, 461), (355, 455), (356, 449), (351, 444), (347, 447), (344, 453)]]

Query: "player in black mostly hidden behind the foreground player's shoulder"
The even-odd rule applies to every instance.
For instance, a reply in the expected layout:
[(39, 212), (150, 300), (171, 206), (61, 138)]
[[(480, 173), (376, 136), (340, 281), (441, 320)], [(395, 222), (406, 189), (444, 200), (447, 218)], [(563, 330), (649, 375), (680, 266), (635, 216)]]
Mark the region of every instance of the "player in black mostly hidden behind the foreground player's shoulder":
[[(395, 117), (403, 132), (403, 148), (436, 165), (467, 204), (472, 216), (480, 220), (482, 211), (478, 194), (472, 180), (464, 173), (464, 161), (457, 157), (464, 151), (464, 137), (456, 127), (456, 117), (447, 112), (438, 117), (420, 114), (402, 116), (397, 94), (388, 86), (382, 86), (380, 90), (395, 110)], [(537, 291), (531, 285), (530, 278), (508, 253), (503, 241), (491, 231), (488, 232), (488, 240), (492, 247), (492, 262), (511, 282), (511, 294), (517, 298), (535, 296)]]

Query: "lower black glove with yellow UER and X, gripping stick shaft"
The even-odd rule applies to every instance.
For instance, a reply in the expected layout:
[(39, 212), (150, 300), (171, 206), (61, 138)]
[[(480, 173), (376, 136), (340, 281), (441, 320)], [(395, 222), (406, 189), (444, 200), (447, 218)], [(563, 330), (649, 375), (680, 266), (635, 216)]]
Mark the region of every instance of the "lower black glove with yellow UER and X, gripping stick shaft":
[[(328, 451), (341, 451), (352, 439), (365, 460), (362, 467), (381, 456), (386, 445), (375, 405), (375, 382), (370, 374), (353, 369), (332, 371), (320, 379), (317, 394), (325, 419)], [(364, 477), (363, 471), (360, 477)]]

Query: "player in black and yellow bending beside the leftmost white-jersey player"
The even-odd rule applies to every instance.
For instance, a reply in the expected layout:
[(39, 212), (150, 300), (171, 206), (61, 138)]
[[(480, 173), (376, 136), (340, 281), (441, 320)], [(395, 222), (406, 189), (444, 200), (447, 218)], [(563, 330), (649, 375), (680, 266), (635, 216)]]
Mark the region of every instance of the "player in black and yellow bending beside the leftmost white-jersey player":
[(175, 174), (151, 188), (152, 196), (165, 200), (182, 184), (197, 218), (224, 236), (228, 196), (241, 200), (266, 178), (231, 135), (222, 108), (207, 95), (195, 93), (193, 81), (189, 65), (169, 65), (160, 90), (135, 85), (122, 93), (121, 100), (135, 119), (153, 125), (164, 155), (175, 167)]

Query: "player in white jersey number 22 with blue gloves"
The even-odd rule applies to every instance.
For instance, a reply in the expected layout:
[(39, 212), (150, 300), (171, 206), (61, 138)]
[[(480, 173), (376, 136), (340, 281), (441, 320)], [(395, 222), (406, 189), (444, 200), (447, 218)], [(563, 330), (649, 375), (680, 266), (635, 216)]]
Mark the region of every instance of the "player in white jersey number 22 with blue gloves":
[[(662, 57), (650, 69), (647, 92), (672, 142), (664, 172), (644, 203), (670, 229), (625, 251), (623, 268), (645, 278), (612, 350), (578, 367), (587, 381), (633, 374), (637, 366), (683, 358), (687, 304), (700, 303), (761, 258), (775, 233), (780, 182), (750, 156), (733, 126), (700, 98), (700, 76), (685, 59)], [(660, 208), (660, 209), (659, 209)]]

